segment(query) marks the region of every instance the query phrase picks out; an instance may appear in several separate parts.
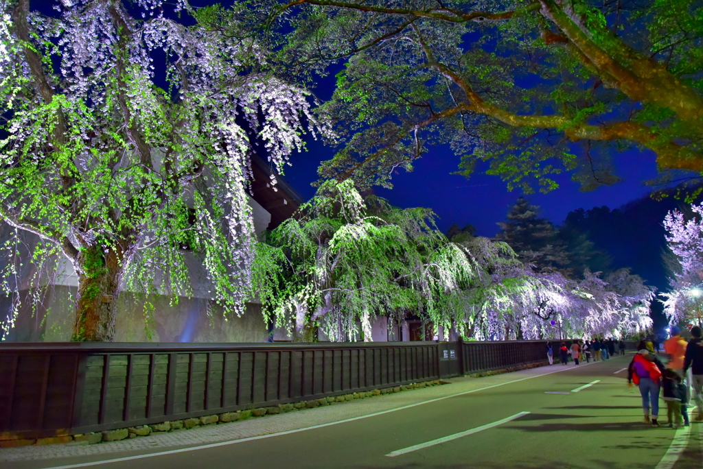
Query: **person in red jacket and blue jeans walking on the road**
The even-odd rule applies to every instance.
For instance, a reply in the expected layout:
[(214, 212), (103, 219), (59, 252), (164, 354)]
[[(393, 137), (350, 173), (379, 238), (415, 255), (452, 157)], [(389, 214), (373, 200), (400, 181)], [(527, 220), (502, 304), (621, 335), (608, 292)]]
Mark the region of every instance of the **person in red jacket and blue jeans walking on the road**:
[[(630, 362), (627, 369), (628, 383), (635, 383), (640, 388), (642, 396), (642, 409), (645, 414), (645, 423), (651, 423), (653, 427), (659, 426), (659, 378), (662, 371), (654, 363), (654, 354), (647, 350), (644, 341), (637, 345), (637, 353)], [(652, 407), (652, 418), (650, 419), (650, 406)]]

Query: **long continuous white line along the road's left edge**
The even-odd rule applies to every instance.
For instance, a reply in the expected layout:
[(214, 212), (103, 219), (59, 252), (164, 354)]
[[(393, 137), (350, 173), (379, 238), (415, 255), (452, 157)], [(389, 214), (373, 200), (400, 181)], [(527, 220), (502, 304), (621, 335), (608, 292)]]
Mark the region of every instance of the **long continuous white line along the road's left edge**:
[[(579, 365), (579, 368), (583, 368), (583, 366), (593, 365), (596, 363), (601, 363), (601, 362), (586, 363), (583, 365)], [(362, 415), (359, 417), (345, 418), (344, 420), (340, 420), (340, 421), (336, 421), (336, 422), (321, 423), (320, 425), (312, 425), (310, 427), (305, 427), (305, 428), (296, 428), (295, 430), (285, 430), (285, 432), (271, 433), (270, 435), (260, 435), (258, 437), (240, 438), (239, 440), (230, 440), (227, 442), (202, 444), (201, 446), (196, 446), (196, 447), (188, 447), (188, 448), (181, 448), (181, 449), (169, 449), (167, 451), (159, 451), (157, 453), (138, 454), (137, 456), (125, 456), (124, 458), (103, 459), (102, 461), (93, 461), (90, 463), (58, 465), (58, 466), (54, 466), (52, 468), (43, 468), (43, 469), (86, 468), (91, 465), (107, 464), (107, 463), (120, 463), (122, 461), (132, 461), (134, 459), (150, 458), (152, 456), (165, 456), (166, 454), (184, 453), (186, 451), (195, 451), (198, 449), (208, 449), (208, 448), (226, 446), (227, 444), (236, 444), (236, 443), (250, 442), (252, 440), (261, 440), (262, 438), (278, 437), (280, 435), (288, 435), (289, 433), (304, 432), (305, 430), (314, 430), (316, 428), (323, 428), (323, 427), (328, 427), (330, 425), (337, 425), (337, 423), (347, 423), (347, 422), (351, 422), (351, 421), (355, 421), (355, 420), (361, 420), (361, 418), (375, 417), (375, 416), (382, 415), (382, 414), (388, 414), (389, 412), (399, 411), (399, 410), (403, 410), (403, 409), (409, 409), (411, 407), (420, 406), (423, 404), (430, 404), (430, 402), (437, 402), (437, 401), (441, 401), (444, 399), (449, 399), (451, 397), (463, 396), (466, 394), (471, 394), (472, 392), (479, 392), (479, 391), (484, 391), (486, 389), (498, 388), (498, 386), (504, 386), (506, 384), (519, 383), (520, 381), (525, 381), (525, 380), (532, 379), (532, 378), (540, 378), (541, 376), (547, 376), (549, 374), (561, 373), (562, 371), (570, 371), (570, 370), (579, 369), (579, 368), (576, 368), (574, 366), (569, 366), (569, 368), (557, 369), (555, 371), (550, 371), (549, 373), (537, 374), (534, 376), (527, 376), (527, 378), (520, 378), (520, 379), (515, 379), (513, 381), (506, 381), (505, 383), (498, 383), (498, 384), (486, 386), (485, 388), (478, 388), (478, 389), (472, 389), (470, 391), (457, 392), (456, 394), (451, 394), (449, 396), (436, 397), (434, 399), (429, 399), (429, 400), (423, 401), (423, 402), (415, 402), (415, 404), (408, 404), (406, 406), (396, 407), (395, 409), (388, 409), (386, 411), (374, 412), (373, 414), (366, 414), (366, 415)]]

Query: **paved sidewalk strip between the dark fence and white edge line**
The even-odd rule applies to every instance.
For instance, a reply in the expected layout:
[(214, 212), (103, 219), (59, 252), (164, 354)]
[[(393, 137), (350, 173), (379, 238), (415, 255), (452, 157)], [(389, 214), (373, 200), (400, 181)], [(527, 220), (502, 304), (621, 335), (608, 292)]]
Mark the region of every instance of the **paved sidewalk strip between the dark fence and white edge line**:
[[(618, 359), (618, 357), (614, 357), (614, 359)], [(581, 366), (588, 366), (588, 364), (582, 364)], [(285, 414), (250, 418), (245, 421), (207, 425), (193, 430), (157, 432), (148, 437), (136, 437), (117, 442), (91, 445), (76, 443), (51, 444), (39, 447), (0, 449), (0, 463), (102, 454), (115, 456), (115, 453), (123, 451), (174, 449), (175, 447), (191, 447), (201, 444), (240, 440), (246, 437), (270, 435), (287, 430), (297, 430), (314, 425), (323, 425), (325, 423), (344, 421), (349, 418), (359, 418), (379, 412), (392, 411), (399, 407), (418, 405), (434, 399), (443, 399), (465, 392), (493, 388), (569, 369), (574, 369), (574, 365), (562, 366), (554, 364), (553, 366), (541, 366), (512, 373), (486, 376), (484, 378), (453, 378), (446, 380), (450, 382), (448, 385), (354, 399), (348, 402), (316, 407), (315, 409), (290, 411)]]

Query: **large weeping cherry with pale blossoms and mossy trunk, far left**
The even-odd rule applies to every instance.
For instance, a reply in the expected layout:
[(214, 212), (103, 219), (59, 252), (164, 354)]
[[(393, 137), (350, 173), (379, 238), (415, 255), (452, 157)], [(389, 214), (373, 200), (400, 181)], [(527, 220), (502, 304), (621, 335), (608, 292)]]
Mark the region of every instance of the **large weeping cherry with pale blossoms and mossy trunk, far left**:
[(33, 263), (60, 256), (75, 271), (77, 341), (111, 340), (124, 288), (188, 295), (186, 255), (212, 300), (240, 312), (252, 141), (280, 168), (303, 120), (323, 130), (307, 93), (266, 72), (266, 44), (169, 8), (201, 14), (184, 0), (63, 0), (51, 16), (0, 0), (0, 216), (41, 239)]

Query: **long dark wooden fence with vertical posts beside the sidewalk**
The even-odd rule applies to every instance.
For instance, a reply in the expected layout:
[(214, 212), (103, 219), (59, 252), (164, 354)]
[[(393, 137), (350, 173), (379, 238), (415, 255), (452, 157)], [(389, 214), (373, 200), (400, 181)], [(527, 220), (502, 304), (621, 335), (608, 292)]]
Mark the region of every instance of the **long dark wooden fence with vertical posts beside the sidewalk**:
[(545, 343), (1, 343), (0, 440), (135, 427), (546, 362)]

